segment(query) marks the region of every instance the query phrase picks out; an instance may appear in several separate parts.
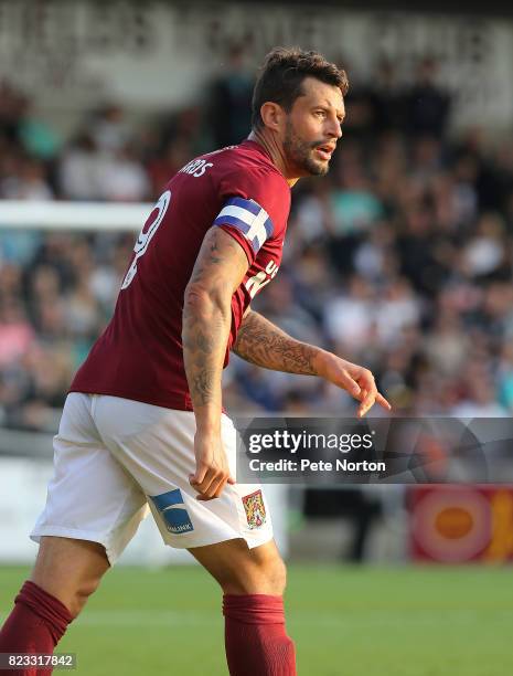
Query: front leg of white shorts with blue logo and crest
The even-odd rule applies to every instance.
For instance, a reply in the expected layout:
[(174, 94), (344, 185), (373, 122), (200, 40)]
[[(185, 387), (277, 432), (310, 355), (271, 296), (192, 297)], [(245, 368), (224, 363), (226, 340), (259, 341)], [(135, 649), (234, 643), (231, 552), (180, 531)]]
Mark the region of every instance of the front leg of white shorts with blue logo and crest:
[[(194, 472), (195, 418), (116, 397), (101, 397), (95, 422), (106, 445), (148, 496), (167, 545), (203, 547), (243, 538), (254, 548), (272, 538), (264, 492), (258, 485), (226, 486), (221, 497), (196, 499), (189, 483)], [(223, 415), (223, 441), (235, 475), (236, 432)]]

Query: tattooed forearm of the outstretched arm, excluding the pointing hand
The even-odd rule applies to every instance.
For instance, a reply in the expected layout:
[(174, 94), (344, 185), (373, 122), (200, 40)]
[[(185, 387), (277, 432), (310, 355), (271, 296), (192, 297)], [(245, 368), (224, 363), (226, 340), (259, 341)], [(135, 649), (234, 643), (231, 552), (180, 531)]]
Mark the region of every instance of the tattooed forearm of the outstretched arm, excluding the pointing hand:
[(244, 318), (233, 350), (246, 361), (266, 369), (319, 374), (316, 367), (319, 348), (295, 340), (253, 310)]

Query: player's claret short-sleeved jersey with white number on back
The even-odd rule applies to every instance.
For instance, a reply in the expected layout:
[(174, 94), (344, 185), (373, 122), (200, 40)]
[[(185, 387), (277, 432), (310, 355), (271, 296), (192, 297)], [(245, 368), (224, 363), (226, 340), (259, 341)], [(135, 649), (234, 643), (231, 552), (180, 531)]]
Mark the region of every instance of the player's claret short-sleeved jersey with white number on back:
[(249, 262), (232, 297), (226, 366), (245, 309), (278, 272), (289, 210), (290, 188), (255, 141), (245, 140), (185, 165), (148, 216), (113, 319), (70, 391), (192, 410), (183, 366), (182, 311), (204, 235), (212, 225), (222, 228)]

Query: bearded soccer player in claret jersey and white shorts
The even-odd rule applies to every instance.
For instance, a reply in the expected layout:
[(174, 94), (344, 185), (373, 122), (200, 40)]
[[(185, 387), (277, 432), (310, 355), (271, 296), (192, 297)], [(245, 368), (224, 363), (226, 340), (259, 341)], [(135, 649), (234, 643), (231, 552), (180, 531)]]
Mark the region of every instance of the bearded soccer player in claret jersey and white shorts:
[(359, 415), (375, 402), (389, 409), (368, 370), (250, 309), (280, 265), (291, 186), (328, 171), (346, 89), (345, 73), (320, 54), (275, 49), (255, 86), (249, 137), (168, 183), (114, 317), (72, 383), (31, 535), (38, 559), (0, 652), (51, 653), (149, 507), (164, 542), (186, 548), (223, 590), (229, 673), (296, 674), (285, 566), (260, 486), (235, 482), (221, 381), (233, 350), (335, 383), (360, 402)]

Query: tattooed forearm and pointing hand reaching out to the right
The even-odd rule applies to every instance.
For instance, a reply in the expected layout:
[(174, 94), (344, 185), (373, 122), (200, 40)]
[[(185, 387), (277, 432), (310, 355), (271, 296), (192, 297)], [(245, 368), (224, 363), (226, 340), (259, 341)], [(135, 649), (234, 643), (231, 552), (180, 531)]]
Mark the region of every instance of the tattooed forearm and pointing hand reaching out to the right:
[(377, 391), (374, 376), (368, 369), (345, 361), (322, 348), (296, 340), (253, 310), (244, 316), (233, 351), (246, 361), (266, 369), (319, 376), (334, 383), (361, 402), (359, 418), (365, 415), (375, 402), (391, 410), (391, 404)]

